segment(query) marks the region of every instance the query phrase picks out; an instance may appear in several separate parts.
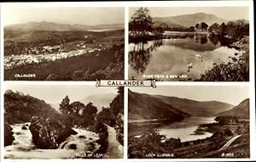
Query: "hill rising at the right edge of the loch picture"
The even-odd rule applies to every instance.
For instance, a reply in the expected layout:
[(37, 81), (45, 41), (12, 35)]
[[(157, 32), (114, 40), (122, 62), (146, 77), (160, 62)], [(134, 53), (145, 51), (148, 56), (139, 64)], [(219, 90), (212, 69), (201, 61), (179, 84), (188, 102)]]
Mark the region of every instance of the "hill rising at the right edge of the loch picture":
[(239, 116), (242, 118), (249, 118), (249, 98), (243, 100), (233, 109), (218, 114), (218, 116)]

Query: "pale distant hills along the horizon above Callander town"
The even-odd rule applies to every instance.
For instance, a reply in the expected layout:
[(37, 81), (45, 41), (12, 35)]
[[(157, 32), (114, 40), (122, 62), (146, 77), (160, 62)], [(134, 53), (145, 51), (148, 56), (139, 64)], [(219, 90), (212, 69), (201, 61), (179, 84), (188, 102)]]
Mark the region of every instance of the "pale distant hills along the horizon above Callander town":
[(22, 24), (7, 25), (4, 31), (89, 31), (89, 30), (119, 30), (124, 29), (124, 24), (113, 25), (67, 25), (48, 21), (27, 22)]

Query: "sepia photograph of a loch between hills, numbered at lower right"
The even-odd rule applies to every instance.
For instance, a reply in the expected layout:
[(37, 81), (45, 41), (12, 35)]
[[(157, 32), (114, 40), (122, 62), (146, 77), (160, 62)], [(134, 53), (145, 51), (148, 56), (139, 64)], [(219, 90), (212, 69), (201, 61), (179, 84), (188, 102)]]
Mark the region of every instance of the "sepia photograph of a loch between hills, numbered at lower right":
[(133, 87), (128, 158), (250, 158), (249, 87)]

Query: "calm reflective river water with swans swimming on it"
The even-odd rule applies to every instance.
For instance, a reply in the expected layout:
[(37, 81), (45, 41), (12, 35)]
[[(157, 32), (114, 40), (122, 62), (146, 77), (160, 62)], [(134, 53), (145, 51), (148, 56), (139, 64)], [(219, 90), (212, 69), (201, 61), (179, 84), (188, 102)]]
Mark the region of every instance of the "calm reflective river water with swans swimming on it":
[[(212, 69), (214, 64), (238, 57), (235, 53), (241, 52), (207, 36), (130, 43), (129, 77), (137, 80), (153, 77), (160, 81), (193, 81)], [(188, 64), (192, 68), (189, 69)], [(178, 79), (175, 75), (184, 77)]]

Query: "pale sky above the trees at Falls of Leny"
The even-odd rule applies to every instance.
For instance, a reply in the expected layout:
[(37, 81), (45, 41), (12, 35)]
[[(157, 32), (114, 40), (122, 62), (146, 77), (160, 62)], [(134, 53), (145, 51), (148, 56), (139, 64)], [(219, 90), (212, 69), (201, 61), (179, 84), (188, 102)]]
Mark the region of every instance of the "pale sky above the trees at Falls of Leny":
[(68, 95), (71, 102), (79, 101), (91, 95), (117, 94), (116, 87), (96, 87), (84, 85), (13, 85), (6, 84), (6, 90), (19, 91), (32, 97), (43, 99), (46, 103), (61, 103)]

